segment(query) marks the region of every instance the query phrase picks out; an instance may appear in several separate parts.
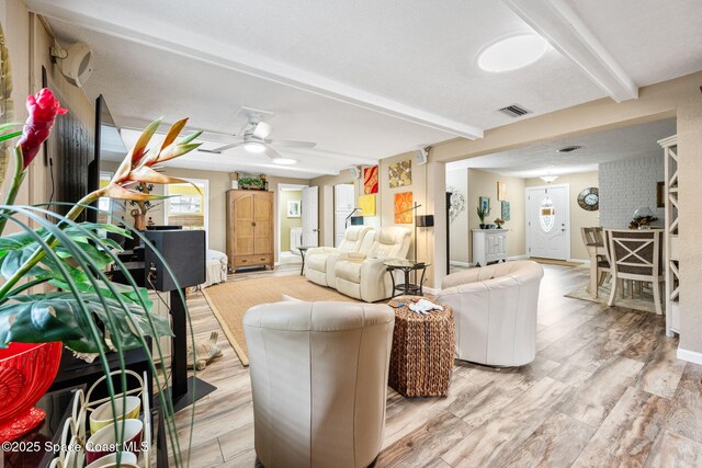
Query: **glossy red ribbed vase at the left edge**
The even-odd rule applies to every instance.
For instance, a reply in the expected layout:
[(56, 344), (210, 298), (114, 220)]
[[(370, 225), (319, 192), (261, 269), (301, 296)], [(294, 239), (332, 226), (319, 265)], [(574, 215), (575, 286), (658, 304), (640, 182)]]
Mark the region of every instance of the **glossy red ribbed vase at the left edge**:
[(10, 343), (0, 350), (0, 443), (13, 441), (41, 423), (34, 404), (54, 383), (63, 343)]

